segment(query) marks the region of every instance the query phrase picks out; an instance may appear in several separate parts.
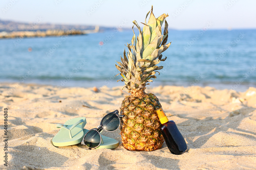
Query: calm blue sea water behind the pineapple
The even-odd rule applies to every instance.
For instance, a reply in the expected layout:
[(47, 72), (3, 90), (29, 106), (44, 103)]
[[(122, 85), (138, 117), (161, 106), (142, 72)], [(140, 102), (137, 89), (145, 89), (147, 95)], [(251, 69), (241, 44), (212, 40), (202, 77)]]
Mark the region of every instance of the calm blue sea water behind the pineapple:
[[(132, 30), (0, 40), (0, 82), (55, 86), (121, 86), (115, 61)], [(169, 30), (170, 47), (156, 85), (246, 90), (256, 86), (256, 30)], [(126, 51), (127, 51), (126, 47)]]

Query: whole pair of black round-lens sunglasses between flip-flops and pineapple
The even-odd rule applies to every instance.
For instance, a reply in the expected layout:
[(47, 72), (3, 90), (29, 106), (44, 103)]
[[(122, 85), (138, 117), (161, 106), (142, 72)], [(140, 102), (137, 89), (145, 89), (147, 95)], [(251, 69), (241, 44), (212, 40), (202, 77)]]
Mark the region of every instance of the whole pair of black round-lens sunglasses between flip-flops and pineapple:
[(104, 129), (108, 132), (117, 130), (120, 126), (120, 117), (124, 117), (124, 115), (118, 115), (118, 110), (105, 115), (100, 122), (100, 126), (89, 130), (84, 135), (81, 144), (86, 145), (89, 149), (100, 146), (100, 144), (103, 143), (100, 133), (101, 130)]

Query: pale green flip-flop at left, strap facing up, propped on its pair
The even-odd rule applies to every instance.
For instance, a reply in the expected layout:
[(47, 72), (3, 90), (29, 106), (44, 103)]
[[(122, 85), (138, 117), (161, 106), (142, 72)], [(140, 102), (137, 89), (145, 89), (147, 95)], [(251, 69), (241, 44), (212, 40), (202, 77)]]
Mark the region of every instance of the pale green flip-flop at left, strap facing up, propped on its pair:
[(86, 124), (85, 117), (70, 119), (63, 125), (57, 124), (60, 131), (52, 138), (54, 146), (70, 146), (80, 143), (85, 135), (83, 128)]

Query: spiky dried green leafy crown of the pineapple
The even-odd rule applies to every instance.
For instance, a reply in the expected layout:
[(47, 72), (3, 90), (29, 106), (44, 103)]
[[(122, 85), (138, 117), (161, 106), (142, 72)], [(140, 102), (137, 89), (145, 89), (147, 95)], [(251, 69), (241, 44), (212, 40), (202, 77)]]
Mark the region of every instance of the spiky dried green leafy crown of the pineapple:
[[(146, 23), (148, 14), (150, 18)], [(124, 49), (124, 58), (121, 57), (121, 62), (115, 65), (116, 68), (121, 72), (119, 73), (123, 78), (121, 81), (125, 82), (124, 88), (128, 91), (138, 91), (145, 89), (147, 82), (152, 82), (151, 78), (156, 78), (156, 70), (161, 70), (163, 66), (156, 66), (160, 61), (165, 61), (166, 57), (162, 59), (162, 52), (165, 51), (171, 43), (166, 44), (168, 38), (168, 24), (165, 20), (168, 14), (163, 14), (158, 18), (155, 18), (153, 14), (153, 5), (145, 19), (143, 30), (141, 31), (140, 26), (134, 20), (134, 25), (139, 30), (139, 35), (136, 37), (133, 27), (132, 43), (128, 44), (127, 47), (129, 52), (127, 56)], [(162, 24), (165, 22), (164, 32), (162, 34)], [(117, 75), (119, 75), (117, 74)], [(160, 73), (158, 72), (158, 75)], [(117, 76), (116, 75), (116, 76)], [(118, 81), (120, 81), (118, 80)], [(148, 83), (149, 84), (149, 83)]]

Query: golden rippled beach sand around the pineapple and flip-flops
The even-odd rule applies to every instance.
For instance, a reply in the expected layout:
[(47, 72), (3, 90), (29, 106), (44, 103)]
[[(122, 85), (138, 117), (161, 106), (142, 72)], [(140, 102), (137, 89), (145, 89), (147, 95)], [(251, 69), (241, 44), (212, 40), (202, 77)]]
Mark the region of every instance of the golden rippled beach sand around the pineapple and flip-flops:
[(148, 87), (176, 122), (188, 151), (171, 154), (165, 142), (151, 152), (127, 151), (119, 135), (115, 149), (89, 150), (81, 144), (55, 147), (57, 123), (85, 116), (85, 128), (95, 128), (128, 93), (122, 87), (93, 88), (9, 83), (0, 84), (1, 146), (4, 146), (4, 108), (8, 108), (8, 166), (1, 169), (255, 169), (256, 88), (245, 92), (213, 87)]

